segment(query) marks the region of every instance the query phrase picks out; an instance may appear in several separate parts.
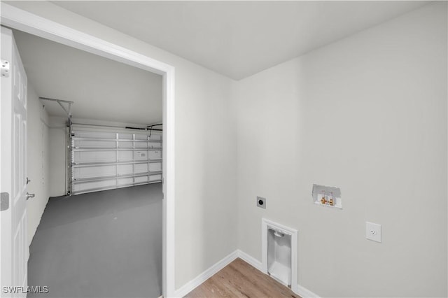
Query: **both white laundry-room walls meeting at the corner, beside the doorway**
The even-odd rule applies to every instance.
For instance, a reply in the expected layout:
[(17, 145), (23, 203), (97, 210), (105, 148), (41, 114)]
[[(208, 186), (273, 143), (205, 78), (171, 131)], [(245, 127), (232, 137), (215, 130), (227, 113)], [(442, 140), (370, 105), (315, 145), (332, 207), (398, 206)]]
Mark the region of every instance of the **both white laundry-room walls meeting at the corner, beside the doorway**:
[[(176, 67), (176, 288), (236, 248), (260, 260), (265, 217), (298, 229), (298, 283), (318, 295), (447, 296), (446, 3), (239, 83), (52, 3), (11, 4)], [(341, 187), (344, 209), (314, 206), (312, 183)]]

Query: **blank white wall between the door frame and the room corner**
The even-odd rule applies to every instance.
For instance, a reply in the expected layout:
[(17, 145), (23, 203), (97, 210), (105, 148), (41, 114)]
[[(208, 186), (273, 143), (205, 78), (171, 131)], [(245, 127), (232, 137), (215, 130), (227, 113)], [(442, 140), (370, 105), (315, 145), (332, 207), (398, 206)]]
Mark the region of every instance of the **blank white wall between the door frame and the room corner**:
[(232, 80), (44, 1), (11, 1), (176, 68), (176, 288), (237, 249)]

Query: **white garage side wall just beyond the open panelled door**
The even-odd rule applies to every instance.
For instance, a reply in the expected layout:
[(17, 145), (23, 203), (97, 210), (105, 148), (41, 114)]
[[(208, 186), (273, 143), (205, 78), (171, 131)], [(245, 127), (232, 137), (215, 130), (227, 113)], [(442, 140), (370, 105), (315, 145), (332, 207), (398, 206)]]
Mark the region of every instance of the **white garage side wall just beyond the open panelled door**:
[(34, 88), (28, 85), (27, 107), (27, 177), (31, 180), (27, 192), (36, 197), (27, 201), (27, 242), (33, 240), (41, 222), (49, 193), (48, 113), (43, 108)]

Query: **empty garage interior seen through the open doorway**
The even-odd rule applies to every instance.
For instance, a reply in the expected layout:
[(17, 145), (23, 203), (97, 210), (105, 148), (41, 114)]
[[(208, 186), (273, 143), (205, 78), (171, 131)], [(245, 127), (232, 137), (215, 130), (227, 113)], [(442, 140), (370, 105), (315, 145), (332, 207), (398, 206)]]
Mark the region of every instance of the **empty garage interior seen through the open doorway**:
[(48, 285), (45, 297), (160, 296), (162, 76), (13, 34), (28, 77), (29, 189), (50, 197), (28, 208), (29, 284)]

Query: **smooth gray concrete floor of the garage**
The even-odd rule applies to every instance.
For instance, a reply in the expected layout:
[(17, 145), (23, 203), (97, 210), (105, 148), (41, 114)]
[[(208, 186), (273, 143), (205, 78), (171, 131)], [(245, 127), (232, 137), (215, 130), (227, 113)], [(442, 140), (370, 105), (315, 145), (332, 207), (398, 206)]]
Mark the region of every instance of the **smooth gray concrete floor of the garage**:
[(162, 184), (51, 198), (30, 246), (28, 297), (162, 295)]

